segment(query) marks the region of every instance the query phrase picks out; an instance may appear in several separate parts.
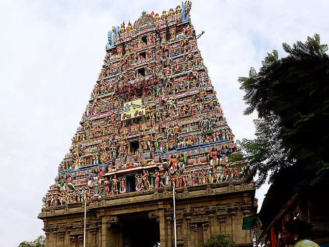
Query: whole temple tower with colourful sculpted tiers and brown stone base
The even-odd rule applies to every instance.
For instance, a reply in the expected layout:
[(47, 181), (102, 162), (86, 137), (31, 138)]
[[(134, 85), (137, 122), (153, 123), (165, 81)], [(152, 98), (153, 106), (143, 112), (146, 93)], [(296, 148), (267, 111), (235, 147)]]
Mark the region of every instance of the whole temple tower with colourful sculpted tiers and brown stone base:
[[(197, 47), (191, 2), (108, 32), (106, 56), (39, 218), (47, 247), (199, 247), (223, 233), (253, 245), (242, 218), (254, 184), (232, 164), (226, 123)], [(210, 41), (209, 41), (210, 42)]]

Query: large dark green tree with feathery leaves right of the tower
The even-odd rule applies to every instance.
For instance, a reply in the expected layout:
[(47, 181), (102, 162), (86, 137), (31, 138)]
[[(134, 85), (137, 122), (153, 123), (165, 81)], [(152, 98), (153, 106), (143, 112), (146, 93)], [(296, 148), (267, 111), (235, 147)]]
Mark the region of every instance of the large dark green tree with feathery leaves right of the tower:
[(289, 46), (279, 59), (273, 50), (256, 73), (239, 77), (244, 114), (254, 111), (256, 138), (238, 141), (247, 165), (246, 180), (256, 174), (256, 186), (271, 183), (277, 171), (298, 166), (308, 171), (307, 184), (321, 181), (329, 173), (329, 56), (320, 36), (308, 37)]

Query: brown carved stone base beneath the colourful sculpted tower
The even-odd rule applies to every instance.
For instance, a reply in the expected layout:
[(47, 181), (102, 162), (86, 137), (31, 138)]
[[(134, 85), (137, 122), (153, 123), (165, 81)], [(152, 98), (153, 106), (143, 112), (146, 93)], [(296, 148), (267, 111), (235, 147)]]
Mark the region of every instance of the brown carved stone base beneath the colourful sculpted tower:
[[(241, 181), (176, 189), (177, 246), (199, 247), (210, 234), (253, 245), (242, 218), (257, 210), (254, 184)], [(84, 202), (43, 208), (46, 247), (82, 247)], [(174, 246), (173, 192), (163, 187), (87, 202), (87, 247)]]

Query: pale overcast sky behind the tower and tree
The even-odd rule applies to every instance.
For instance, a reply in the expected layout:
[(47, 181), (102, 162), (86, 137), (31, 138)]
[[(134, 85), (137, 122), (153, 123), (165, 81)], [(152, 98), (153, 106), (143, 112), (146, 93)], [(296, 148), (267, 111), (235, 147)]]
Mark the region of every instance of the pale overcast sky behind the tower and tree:
[[(0, 236), (16, 247), (42, 234), (42, 198), (102, 68), (107, 31), (143, 10), (161, 14), (180, 1), (0, 1)], [(319, 33), (329, 44), (329, 2), (194, 0), (198, 47), (236, 139), (253, 138), (238, 77), (268, 51)], [(268, 185), (256, 192), (259, 207)]]

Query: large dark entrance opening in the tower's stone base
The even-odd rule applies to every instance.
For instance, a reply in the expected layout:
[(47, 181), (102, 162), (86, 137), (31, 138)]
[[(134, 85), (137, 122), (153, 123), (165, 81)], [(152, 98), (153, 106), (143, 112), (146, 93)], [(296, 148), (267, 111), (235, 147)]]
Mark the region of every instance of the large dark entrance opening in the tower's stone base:
[[(158, 247), (160, 242), (160, 227), (156, 218), (149, 217), (149, 212), (124, 214), (119, 216), (122, 223), (124, 246)], [(145, 235), (147, 234), (147, 236)]]

